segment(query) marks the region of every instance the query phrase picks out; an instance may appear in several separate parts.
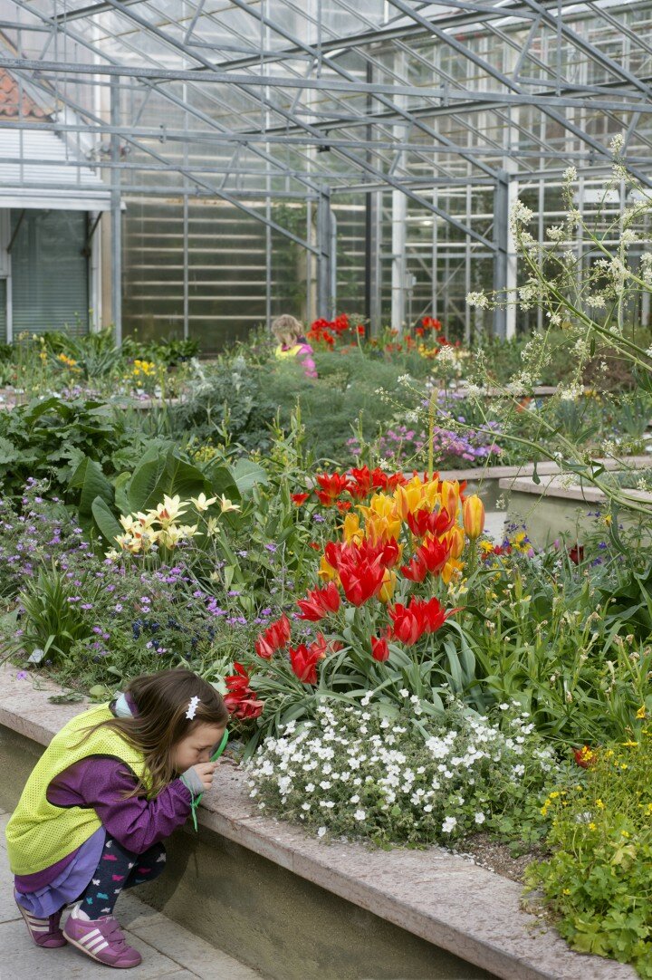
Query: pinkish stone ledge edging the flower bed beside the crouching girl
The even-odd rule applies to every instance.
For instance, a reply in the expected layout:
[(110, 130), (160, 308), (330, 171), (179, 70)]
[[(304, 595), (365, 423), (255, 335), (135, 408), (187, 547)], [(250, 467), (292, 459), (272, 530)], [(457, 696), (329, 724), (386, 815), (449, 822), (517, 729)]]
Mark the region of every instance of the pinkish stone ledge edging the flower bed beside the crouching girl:
[[(17, 680), (0, 668), (0, 724), (46, 745), (78, 711), (52, 705), (59, 689)], [(371, 851), (359, 844), (325, 844), (300, 828), (260, 815), (243, 774), (223, 764), (218, 786), (204, 797), (207, 829), (268, 858), (433, 946), (505, 980), (635, 980), (628, 966), (572, 952), (553, 929), (521, 909), (516, 882), (440, 848)]]

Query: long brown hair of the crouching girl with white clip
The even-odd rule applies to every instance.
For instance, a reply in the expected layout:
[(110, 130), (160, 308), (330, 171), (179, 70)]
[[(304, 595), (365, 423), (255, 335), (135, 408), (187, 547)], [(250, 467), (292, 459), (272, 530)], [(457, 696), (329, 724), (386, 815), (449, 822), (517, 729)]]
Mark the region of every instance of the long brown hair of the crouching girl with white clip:
[[(98, 728), (111, 728), (145, 757), (148, 785), (138, 782), (133, 796), (157, 796), (176, 776), (173, 749), (200, 724), (226, 726), (228, 710), (215, 688), (192, 670), (175, 667), (134, 677), (126, 687), (138, 713), (128, 718), (109, 718)], [(190, 700), (199, 698), (194, 717), (186, 718)], [(94, 729), (91, 729), (94, 730)]]

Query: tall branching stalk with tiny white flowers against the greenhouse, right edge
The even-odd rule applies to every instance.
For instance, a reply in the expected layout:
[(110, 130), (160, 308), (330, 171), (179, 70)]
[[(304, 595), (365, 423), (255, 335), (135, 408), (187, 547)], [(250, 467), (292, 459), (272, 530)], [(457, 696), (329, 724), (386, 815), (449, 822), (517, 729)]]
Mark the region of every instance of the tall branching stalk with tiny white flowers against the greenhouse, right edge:
[[(560, 382), (557, 396), (547, 409), (557, 411), (560, 405), (563, 408), (564, 404), (577, 403), (586, 394), (582, 379), (588, 362), (597, 360), (598, 372), (606, 373), (607, 354), (627, 366), (640, 393), (652, 394), (652, 345), (649, 338), (641, 342), (644, 331), (638, 324), (627, 322), (641, 295), (652, 292), (652, 242), (644, 231), (652, 217), (652, 189), (643, 187), (627, 173), (620, 157), (622, 148), (623, 138), (616, 137), (612, 142), (611, 178), (605, 182), (598, 206), (601, 231), (591, 228), (578, 209), (577, 172), (574, 167), (568, 168), (564, 173), (566, 218), (547, 229), (545, 242), (537, 241), (528, 230), (533, 215), (525, 204), (518, 201), (512, 211), (511, 227), (525, 281), (514, 293), (470, 293), (467, 302), (480, 309), (505, 305), (516, 305), (524, 311), (540, 308), (547, 320), (544, 330), (529, 339), (522, 355), (523, 368), (504, 385), (511, 409), (505, 411), (503, 437), (530, 449), (533, 458), (553, 460), (562, 470), (581, 476), (601, 489), (613, 504), (650, 515), (649, 504), (632, 498), (613, 480), (603, 478), (604, 467), (591, 458), (577, 435), (560, 431), (553, 411), (541, 411), (527, 402), (542, 369), (554, 367), (563, 359), (564, 368), (569, 367), (570, 360), (571, 372)], [(627, 206), (607, 213), (607, 205), (616, 193), (620, 197), (623, 188), (627, 191)], [(565, 338), (561, 346), (560, 330)], [(473, 391), (477, 397), (482, 384), (495, 386), (481, 356), (476, 363), (472, 397)], [(531, 424), (526, 426), (529, 434), (524, 435), (526, 421)], [(618, 445), (605, 435), (599, 455), (618, 460)]]

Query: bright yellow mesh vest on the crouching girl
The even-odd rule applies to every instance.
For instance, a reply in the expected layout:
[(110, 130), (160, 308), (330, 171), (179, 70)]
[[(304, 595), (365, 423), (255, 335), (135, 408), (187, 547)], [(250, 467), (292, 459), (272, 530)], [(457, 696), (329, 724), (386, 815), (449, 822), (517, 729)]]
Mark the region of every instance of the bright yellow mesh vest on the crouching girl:
[(69, 765), (93, 756), (125, 762), (147, 784), (142, 753), (111, 728), (85, 729), (113, 718), (108, 705), (83, 711), (50, 742), (27, 779), (18, 807), (7, 824), (7, 850), (14, 874), (35, 874), (65, 858), (98, 830), (102, 821), (92, 807), (55, 807), (47, 800), (52, 780)]

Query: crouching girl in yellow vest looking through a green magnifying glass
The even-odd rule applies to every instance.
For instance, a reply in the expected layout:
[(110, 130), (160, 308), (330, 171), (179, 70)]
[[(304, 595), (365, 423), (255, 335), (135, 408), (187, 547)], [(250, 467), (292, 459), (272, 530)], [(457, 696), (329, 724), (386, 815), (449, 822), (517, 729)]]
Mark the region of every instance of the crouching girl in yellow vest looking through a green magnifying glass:
[(163, 871), (161, 841), (210, 788), (227, 717), (218, 692), (178, 668), (137, 677), (55, 735), (6, 831), (14, 896), (37, 946), (68, 942), (109, 966), (138, 965), (114, 907), (123, 889)]

